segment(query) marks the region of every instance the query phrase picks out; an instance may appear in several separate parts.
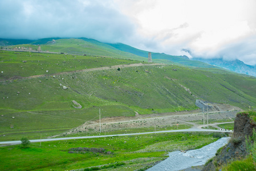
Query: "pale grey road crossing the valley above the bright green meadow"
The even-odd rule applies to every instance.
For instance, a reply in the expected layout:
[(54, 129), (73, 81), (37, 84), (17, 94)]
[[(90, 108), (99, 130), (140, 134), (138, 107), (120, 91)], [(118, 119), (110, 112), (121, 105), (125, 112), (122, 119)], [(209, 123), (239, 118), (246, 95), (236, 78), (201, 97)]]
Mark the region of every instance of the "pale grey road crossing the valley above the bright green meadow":
[[(45, 141), (59, 141), (59, 140), (92, 139), (92, 138), (101, 138), (101, 137), (145, 135), (145, 134), (153, 134), (153, 133), (170, 133), (170, 132), (231, 132), (231, 131), (220, 131), (220, 130), (216, 130), (216, 129), (190, 128), (190, 129), (176, 129), (176, 130), (169, 130), (169, 131), (125, 133), (125, 134), (117, 134), (117, 135), (100, 135), (100, 136), (66, 137), (66, 138), (57, 138), (57, 139), (30, 140), (30, 142), (31, 143), (39, 143), (40, 141), (45, 142)], [(0, 145), (15, 145), (15, 144), (21, 144), (21, 141), (2, 141), (2, 142), (0, 142)]]

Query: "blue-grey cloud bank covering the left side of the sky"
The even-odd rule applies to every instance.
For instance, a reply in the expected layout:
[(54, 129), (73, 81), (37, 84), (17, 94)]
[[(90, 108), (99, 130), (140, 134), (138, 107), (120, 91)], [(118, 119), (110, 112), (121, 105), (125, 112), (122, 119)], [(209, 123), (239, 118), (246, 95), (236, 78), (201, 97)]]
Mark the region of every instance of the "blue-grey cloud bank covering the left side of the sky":
[(135, 30), (112, 1), (0, 1), (1, 38), (87, 37), (122, 42)]

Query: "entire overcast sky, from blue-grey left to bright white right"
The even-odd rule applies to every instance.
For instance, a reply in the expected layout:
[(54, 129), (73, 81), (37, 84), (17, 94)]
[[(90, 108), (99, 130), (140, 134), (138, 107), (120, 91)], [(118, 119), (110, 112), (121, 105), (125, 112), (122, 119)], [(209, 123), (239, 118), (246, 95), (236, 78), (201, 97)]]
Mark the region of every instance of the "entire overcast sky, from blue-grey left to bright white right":
[(255, 0), (0, 0), (0, 38), (86, 37), (256, 64)]

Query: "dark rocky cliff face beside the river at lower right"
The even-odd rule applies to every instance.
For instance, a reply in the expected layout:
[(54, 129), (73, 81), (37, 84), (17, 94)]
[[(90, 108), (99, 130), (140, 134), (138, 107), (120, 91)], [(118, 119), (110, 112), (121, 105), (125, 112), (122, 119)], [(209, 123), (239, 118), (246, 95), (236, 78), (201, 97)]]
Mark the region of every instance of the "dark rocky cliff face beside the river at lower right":
[(239, 160), (247, 155), (246, 137), (253, 135), (256, 124), (246, 113), (238, 113), (235, 117), (234, 134), (230, 143), (216, 153), (216, 157), (204, 166), (203, 170), (216, 170), (218, 166), (224, 165), (232, 160)]

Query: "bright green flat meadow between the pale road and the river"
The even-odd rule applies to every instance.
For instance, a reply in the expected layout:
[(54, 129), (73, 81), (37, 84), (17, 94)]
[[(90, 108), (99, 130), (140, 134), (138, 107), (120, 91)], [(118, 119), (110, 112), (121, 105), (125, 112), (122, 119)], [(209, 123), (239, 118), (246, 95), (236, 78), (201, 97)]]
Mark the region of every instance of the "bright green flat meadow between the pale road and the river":
[[(194, 149), (213, 143), (209, 133), (162, 133), (32, 143), (0, 147), (0, 170), (71, 170), (99, 167), (101, 170), (136, 170), (164, 160), (170, 151)], [(71, 148), (104, 148), (104, 153), (70, 153)], [(11, 162), (10, 162), (11, 161)]]

